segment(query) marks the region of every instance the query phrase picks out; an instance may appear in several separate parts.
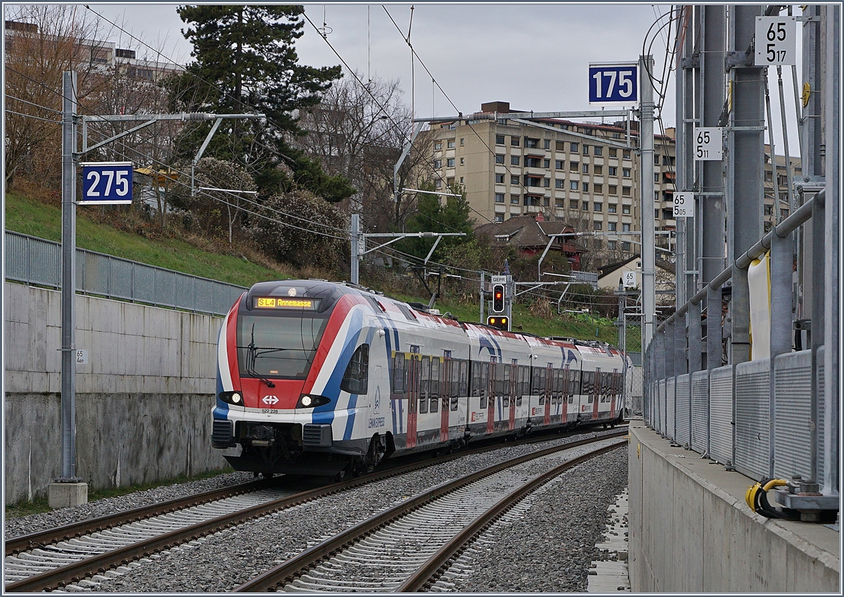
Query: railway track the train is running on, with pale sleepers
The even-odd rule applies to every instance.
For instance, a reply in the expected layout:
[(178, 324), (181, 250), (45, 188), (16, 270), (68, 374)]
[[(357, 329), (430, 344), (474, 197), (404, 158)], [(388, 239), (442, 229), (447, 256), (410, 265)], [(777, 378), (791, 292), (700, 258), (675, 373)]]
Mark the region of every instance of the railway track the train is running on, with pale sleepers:
[[(603, 437), (623, 433), (626, 431), (607, 433)], [(548, 439), (528, 438), (520, 443)], [(582, 441), (565, 445), (576, 444), (582, 444)], [(97, 574), (107, 575), (115, 569), (125, 572), (126, 567), (137, 566), (133, 562), (144, 557), (230, 526), (389, 476), (496, 447), (465, 450), (306, 491), (297, 491), (295, 487), (276, 487), (279, 479), (252, 481), (14, 538), (5, 546), (4, 588), (8, 592), (61, 589)]]

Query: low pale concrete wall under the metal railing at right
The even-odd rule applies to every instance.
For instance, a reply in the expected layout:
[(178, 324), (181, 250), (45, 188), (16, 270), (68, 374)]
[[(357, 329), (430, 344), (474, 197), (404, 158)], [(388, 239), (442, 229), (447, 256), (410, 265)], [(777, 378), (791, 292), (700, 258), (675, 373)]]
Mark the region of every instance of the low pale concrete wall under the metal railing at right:
[(839, 535), (766, 519), (744, 503), (754, 481), (630, 425), (630, 586), (634, 592), (839, 592)]

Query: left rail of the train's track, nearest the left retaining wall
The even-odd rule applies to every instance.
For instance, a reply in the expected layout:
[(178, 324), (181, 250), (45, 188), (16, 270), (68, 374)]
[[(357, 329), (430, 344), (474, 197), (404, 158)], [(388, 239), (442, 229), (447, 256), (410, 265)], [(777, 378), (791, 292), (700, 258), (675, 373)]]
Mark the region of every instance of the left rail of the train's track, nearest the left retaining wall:
[(193, 506), (214, 502), (219, 499), (231, 498), (243, 493), (268, 489), (273, 487), (273, 481), (277, 482), (279, 478), (274, 480), (261, 479), (260, 481), (250, 481), (241, 485), (213, 489), (208, 492), (187, 496), (186, 498), (174, 498), (166, 502), (152, 503), (148, 506), (124, 510), (115, 514), (105, 514), (95, 519), (80, 520), (77, 523), (66, 524), (56, 529), (42, 530), (37, 533), (31, 533), (30, 535), (20, 535), (19, 537), (6, 540), (6, 557), (17, 556), (23, 551), (48, 546), (58, 541), (68, 541), (69, 539), (75, 539), (76, 537), (89, 535), (97, 531), (111, 529), (121, 524), (137, 522), (138, 520), (148, 519), (160, 514), (168, 514), (184, 508), (192, 508)]

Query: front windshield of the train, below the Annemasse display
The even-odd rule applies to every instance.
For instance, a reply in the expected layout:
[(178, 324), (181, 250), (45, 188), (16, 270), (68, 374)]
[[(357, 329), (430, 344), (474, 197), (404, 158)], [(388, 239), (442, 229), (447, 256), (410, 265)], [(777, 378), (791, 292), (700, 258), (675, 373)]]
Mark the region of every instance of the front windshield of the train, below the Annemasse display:
[(237, 360), (241, 377), (305, 379), (327, 316), (241, 315)]

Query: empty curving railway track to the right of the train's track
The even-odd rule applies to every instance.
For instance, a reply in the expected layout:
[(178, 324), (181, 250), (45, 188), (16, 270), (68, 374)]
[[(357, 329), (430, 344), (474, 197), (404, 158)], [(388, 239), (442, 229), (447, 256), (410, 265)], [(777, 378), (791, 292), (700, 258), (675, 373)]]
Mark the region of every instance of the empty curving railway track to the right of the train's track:
[[(626, 444), (607, 438), (560, 462), (565, 444), (491, 465), (372, 516), (242, 584), (235, 592), (417, 592), (530, 492), (561, 472)], [(533, 474), (525, 465), (544, 465)], [(491, 504), (491, 507), (490, 507)]]

